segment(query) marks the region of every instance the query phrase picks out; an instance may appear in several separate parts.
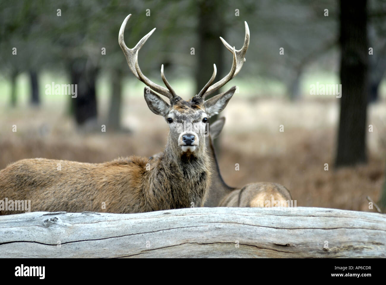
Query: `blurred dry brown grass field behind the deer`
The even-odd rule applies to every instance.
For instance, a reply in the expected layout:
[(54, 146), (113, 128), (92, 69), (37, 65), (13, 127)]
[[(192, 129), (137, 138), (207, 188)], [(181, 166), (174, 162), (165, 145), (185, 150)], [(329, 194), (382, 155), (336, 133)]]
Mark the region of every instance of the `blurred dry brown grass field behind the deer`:
[[(106, 104), (105, 104), (106, 103)], [(107, 102), (100, 104), (108, 105)], [(125, 98), (122, 122), (131, 132), (76, 131), (62, 105), (19, 107), (0, 114), (0, 169), (23, 158), (51, 158), (99, 163), (118, 156), (150, 156), (161, 151), (166, 122), (142, 97)], [(101, 107), (101, 112), (105, 107)], [(58, 111), (59, 110), (59, 111)], [(298, 206), (347, 210), (368, 209), (366, 195), (380, 197), (386, 157), (386, 103), (370, 105), (367, 145), (369, 163), (334, 169), (339, 105), (337, 100), (233, 98), (224, 112), (219, 163), (225, 181), (242, 187), (250, 182), (285, 185)], [(99, 125), (106, 124), (100, 119)], [(279, 132), (279, 125), (284, 132)], [(12, 126), (17, 132), (12, 132)], [(240, 170), (235, 170), (239, 163)], [(324, 164), (328, 163), (328, 171)]]

